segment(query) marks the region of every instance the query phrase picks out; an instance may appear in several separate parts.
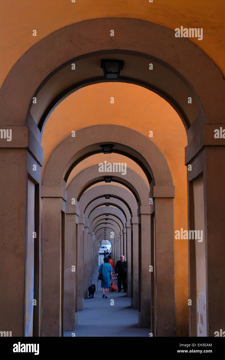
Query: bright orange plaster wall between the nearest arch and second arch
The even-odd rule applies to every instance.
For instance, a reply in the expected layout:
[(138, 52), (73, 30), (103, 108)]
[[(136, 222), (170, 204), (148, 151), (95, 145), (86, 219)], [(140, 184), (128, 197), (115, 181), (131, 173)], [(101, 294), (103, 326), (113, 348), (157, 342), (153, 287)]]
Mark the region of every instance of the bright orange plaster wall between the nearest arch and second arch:
[[(111, 96), (114, 104), (110, 103)], [(141, 86), (116, 82), (95, 84), (76, 91), (61, 102), (43, 130), (42, 176), (52, 151), (72, 130), (99, 124), (130, 127), (147, 137), (149, 131), (153, 131), (151, 140), (164, 154), (175, 185), (174, 229), (187, 229), (187, 170), (184, 165), (187, 135), (171, 105)], [(91, 166), (97, 163), (96, 160), (97, 157), (95, 162), (89, 157), (83, 165), (78, 164), (78, 169)], [(188, 336), (188, 244), (185, 240), (174, 241), (174, 254), (176, 329), (178, 335)]]

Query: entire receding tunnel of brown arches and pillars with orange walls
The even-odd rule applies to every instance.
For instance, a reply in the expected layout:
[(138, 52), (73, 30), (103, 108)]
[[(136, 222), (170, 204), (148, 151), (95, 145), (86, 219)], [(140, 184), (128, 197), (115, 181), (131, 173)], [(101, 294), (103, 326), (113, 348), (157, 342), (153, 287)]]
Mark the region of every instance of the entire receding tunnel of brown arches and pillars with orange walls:
[[(0, 89), (0, 319), (13, 336), (79, 336), (106, 240), (113, 269), (127, 261), (127, 297), (115, 296), (144, 336), (214, 336), (224, 323), (225, 148), (214, 136), (225, 127), (224, 77), (206, 42), (166, 27), (171, 9), (157, 24), (101, 14), (53, 21), (26, 45), (24, 35)], [(104, 78), (107, 58), (124, 62), (117, 79)], [(104, 161), (126, 174), (99, 171)], [(202, 230), (202, 242), (176, 239), (181, 229)]]

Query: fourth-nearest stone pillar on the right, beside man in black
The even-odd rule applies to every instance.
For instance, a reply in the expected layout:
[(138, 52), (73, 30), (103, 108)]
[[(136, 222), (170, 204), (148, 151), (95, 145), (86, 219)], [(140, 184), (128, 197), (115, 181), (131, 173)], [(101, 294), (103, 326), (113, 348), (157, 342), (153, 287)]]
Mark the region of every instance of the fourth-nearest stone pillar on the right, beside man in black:
[(133, 309), (138, 309), (138, 217), (132, 217), (130, 220), (132, 224), (132, 238), (131, 238), (131, 281), (132, 294), (131, 306)]

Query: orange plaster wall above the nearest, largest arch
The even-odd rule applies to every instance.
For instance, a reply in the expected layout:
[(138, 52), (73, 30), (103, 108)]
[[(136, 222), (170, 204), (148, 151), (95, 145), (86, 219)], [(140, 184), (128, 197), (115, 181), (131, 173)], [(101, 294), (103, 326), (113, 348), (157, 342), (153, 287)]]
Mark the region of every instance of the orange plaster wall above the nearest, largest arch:
[(203, 28), (203, 39), (190, 41), (225, 74), (224, 4), (224, 0), (1, 0), (0, 84), (23, 53), (43, 37), (75, 22), (103, 17), (138, 18), (171, 30), (180, 26)]

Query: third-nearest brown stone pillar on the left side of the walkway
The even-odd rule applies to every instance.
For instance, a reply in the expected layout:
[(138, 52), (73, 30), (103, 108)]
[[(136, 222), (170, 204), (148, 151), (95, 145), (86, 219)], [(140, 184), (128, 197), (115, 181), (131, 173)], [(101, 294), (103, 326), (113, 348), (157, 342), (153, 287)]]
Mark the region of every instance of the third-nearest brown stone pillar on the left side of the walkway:
[(65, 215), (65, 285), (64, 285), (64, 330), (74, 330), (77, 326), (76, 292), (76, 224), (77, 207), (66, 205)]

